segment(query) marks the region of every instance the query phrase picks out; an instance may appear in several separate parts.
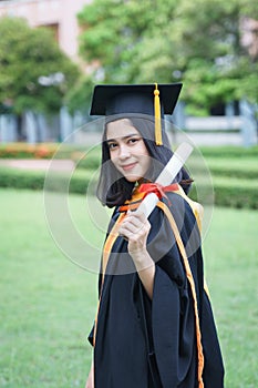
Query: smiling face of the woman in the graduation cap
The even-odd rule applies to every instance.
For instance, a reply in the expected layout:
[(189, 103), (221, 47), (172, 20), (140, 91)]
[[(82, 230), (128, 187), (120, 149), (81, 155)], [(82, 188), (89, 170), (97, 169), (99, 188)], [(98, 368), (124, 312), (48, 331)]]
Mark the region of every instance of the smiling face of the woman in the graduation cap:
[(106, 126), (111, 161), (128, 182), (146, 176), (151, 156), (140, 132), (128, 119), (113, 121)]

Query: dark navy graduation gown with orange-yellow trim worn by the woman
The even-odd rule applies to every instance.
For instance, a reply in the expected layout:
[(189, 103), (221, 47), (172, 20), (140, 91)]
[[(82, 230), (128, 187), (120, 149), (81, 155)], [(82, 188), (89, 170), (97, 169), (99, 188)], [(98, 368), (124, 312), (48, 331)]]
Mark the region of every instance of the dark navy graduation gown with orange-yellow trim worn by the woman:
[[(132, 206), (138, 201), (133, 197)], [(114, 232), (123, 211), (116, 208), (111, 219), (97, 318), (89, 336), (94, 345), (95, 388), (224, 387), (223, 359), (204, 286), (197, 212), (178, 190), (167, 193), (149, 216), (147, 249), (155, 262), (151, 300), (126, 241)]]

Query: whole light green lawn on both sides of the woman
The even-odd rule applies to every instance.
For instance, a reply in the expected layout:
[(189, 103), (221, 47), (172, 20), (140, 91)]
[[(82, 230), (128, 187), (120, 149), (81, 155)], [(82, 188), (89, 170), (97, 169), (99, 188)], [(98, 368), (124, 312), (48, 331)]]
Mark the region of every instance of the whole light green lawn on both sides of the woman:
[[(0, 200), (0, 387), (83, 388), (92, 355), (86, 336), (95, 314), (97, 277), (55, 246), (41, 192), (1, 190)], [(102, 222), (93, 213), (94, 202), (94, 232), (83, 196), (72, 195), (69, 203), (80, 233), (100, 246)], [(64, 236), (72, 239), (58, 204), (53, 217), (60, 217)], [(204, 241), (226, 388), (258, 386), (257, 214), (215, 208)]]

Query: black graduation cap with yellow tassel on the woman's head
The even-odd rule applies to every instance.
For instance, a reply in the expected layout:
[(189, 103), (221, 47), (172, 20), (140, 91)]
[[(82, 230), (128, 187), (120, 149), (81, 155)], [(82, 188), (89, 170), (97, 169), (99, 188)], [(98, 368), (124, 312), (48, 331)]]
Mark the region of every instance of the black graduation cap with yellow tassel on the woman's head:
[(94, 88), (91, 115), (123, 113), (147, 114), (155, 118), (155, 141), (162, 145), (161, 119), (172, 114), (183, 84), (125, 84), (96, 85)]

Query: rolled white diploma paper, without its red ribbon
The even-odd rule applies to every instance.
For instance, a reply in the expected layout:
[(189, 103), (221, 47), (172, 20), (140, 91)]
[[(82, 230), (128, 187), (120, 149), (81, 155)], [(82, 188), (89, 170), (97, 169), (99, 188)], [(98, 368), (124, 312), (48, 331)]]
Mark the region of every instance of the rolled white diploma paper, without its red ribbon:
[[(169, 185), (173, 180), (176, 177), (180, 169), (184, 166), (186, 160), (190, 155), (193, 151), (193, 146), (188, 143), (182, 143), (173, 156), (169, 159), (158, 177), (156, 178), (156, 183), (158, 183), (162, 186)], [(146, 217), (149, 216), (149, 214), (155, 208), (158, 197), (154, 193), (149, 193), (145, 196), (143, 202), (140, 204), (136, 212), (143, 212)]]

